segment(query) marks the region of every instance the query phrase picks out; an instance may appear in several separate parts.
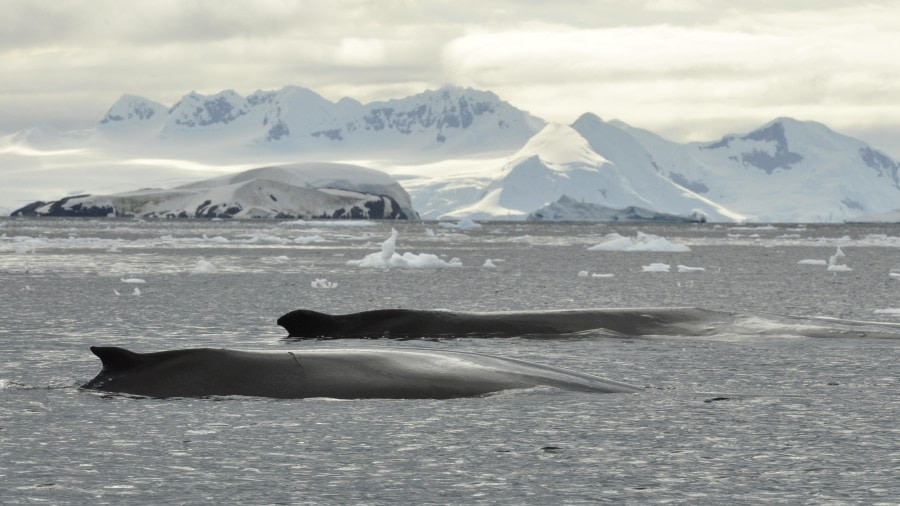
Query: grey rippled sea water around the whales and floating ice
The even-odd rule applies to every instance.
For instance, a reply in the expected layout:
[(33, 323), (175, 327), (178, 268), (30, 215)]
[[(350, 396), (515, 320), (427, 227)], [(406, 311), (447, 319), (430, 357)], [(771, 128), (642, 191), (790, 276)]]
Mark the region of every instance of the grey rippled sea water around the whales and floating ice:
[[(463, 267), (347, 265), (378, 251), (391, 227), (398, 252)], [(691, 251), (587, 250), (638, 231)], [(837, 263), (852, 270), (798, 264), (838, 247)], [(483, 268), (486, 259), (496, 268)], [(671, 272), (643, 271), (653, 263)], [(896, 504), (900, 339), (864, 331), (900, 326), (892, 273), (897, 226), (3, 219), (0, 503)], [(313, 287), (318, 279), (337, 285)], [(297, 308), (648, 306), (874, 323), (827, 339), (785, 328), (402, 343), (290, 341), (275, 324)], [(444, 401), (139, 399), (77, 388), (100, 369), (91, 345), (415, 346), (644, 388)]]

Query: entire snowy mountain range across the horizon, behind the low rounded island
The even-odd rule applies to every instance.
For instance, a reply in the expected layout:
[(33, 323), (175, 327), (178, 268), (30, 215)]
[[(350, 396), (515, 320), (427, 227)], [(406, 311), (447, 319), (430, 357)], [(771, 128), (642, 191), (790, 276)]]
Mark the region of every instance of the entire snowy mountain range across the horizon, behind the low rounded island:
[(547, 124), (469, 88), (362, 104), (288, 86), (192, 92), (172, 107), (125, 95), (95, 128), (0, 137), (0, 208), (323, 160), (390, 174), (423, 218), (525, 219), (564, 195), (710, 221), (855, 221), (900, 202), (895, 160), (814, 122), (679, 144), (593, 114)]

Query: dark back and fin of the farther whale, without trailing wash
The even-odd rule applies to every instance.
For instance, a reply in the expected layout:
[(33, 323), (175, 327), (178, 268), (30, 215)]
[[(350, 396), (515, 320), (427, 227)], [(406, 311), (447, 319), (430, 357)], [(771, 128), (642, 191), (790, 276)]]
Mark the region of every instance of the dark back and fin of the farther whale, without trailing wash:
[[(472, 313), (418, 309), (376, 309), (330, 315), (291, 311), (278, 325), (291, 338), (573, 337), (588, 330), (624, 336), (703, 336), (712, 324), (733, 321), (730, 313), (698, 308), (570, 309)], [(602, 334), (600, 334), (602, 335)], [(596, 337), (596, 335), (592, 336)]]

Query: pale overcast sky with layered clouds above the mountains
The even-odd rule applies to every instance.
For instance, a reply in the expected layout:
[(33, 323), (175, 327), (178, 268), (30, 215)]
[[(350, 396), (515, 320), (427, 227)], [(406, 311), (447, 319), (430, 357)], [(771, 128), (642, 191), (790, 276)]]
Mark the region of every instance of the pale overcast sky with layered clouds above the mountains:
[(454, 84), (680, 141), (792, 116), (900, 157), (898, 24), (898, 1), (2, 0), (0, 133), (90, 127), (123, 93)]

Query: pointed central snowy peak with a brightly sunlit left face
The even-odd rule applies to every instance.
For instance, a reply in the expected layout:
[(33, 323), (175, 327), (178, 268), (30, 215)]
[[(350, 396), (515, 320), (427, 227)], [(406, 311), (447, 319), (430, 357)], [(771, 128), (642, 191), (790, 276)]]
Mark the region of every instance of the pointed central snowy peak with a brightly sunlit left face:
[(562, 196), (621, 209), (637, 206), (713, 221), (743, 217), (663, 177), (627, 133), (584, 115), (571, 127), (551, 124), (532, 137), (488, 184), (481, 198), (448, 218), (524, 219)]

